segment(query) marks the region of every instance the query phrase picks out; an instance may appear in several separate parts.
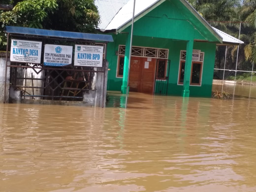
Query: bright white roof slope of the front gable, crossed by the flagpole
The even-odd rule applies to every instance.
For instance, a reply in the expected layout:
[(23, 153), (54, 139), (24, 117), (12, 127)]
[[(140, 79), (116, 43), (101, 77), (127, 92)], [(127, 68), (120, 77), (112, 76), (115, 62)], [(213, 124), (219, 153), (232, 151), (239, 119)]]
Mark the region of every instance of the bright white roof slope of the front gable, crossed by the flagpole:
[[(135, 1), (135, 12), (134, 17), (142, 13), (145, 9), (151, 7), (159, 0), (136, 0)], [(125, 23), (129, 22), (132, 19), (133, 12), (133, 0), (129, 0), (121, 10), (114, 16), (109, 25), (105, 30), (118, 29)]]

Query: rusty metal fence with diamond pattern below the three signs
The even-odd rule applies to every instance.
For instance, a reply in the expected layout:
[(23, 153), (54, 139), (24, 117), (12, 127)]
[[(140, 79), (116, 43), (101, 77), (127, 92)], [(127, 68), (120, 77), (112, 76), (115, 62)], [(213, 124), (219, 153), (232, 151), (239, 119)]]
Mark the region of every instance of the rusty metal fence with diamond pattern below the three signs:
[(21, 90), (23, 99), (82, 101), (83, 93), (94, 89), (95, 75), (104, 73), (93, 67), (55, 68), (13, 62), (8, 67), (10, 86)]

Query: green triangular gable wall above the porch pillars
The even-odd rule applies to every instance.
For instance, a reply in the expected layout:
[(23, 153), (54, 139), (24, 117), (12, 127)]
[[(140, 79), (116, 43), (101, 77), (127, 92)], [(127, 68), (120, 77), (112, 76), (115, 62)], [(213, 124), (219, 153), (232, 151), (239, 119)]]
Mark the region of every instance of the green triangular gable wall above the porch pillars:
[[(185, 13), (189, 12), (189, 14)], [(186, 16), (187, 15), (187, 16)], [(219, 42), (184, 5), (165, 1), (134, 23), (134, 35)]]

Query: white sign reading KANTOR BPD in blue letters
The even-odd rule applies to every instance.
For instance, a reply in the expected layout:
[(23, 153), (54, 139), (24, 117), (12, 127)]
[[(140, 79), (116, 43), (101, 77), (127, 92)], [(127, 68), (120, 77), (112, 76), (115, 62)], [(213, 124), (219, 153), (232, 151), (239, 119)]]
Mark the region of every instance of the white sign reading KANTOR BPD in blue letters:
[(102, 67), (103, 46), (75, 45), (74, 66)]

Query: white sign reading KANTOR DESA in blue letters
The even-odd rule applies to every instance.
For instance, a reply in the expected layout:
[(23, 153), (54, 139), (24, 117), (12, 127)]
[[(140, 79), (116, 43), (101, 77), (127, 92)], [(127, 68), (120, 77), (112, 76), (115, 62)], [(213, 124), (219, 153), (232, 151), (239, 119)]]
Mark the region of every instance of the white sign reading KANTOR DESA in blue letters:
[(15, 62), (41, 63), (41, 41), (12, 39), (10, 60)]

